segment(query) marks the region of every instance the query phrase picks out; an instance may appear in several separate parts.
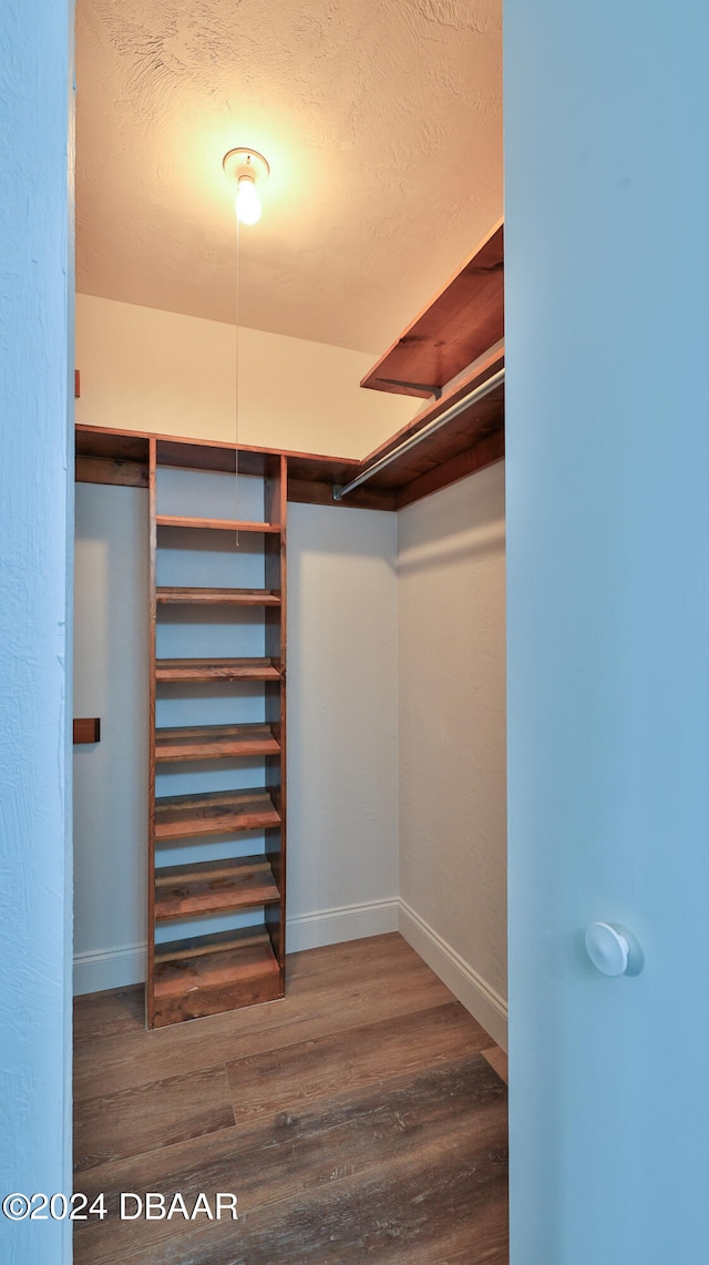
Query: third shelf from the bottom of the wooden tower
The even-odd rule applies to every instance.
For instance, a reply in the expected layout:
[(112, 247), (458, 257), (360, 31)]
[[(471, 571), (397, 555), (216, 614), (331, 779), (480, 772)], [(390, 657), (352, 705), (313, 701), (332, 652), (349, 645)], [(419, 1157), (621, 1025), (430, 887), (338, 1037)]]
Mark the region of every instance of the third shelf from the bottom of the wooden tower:
[(267, 788), (210, 791), (207, 794), (158, 796), (155, 841), (226, 835), (240, 830), (265, 830), (281, 825)]

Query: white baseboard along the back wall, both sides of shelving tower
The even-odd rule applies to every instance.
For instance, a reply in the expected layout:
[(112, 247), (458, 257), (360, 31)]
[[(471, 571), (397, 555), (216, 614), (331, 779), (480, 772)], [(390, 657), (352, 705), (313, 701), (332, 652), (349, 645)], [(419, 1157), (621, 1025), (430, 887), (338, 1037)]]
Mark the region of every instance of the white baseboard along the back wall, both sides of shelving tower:
[[(368, 901), (344, 904), (335, 910), (302, 913), (286, 921), (288, 953), (321, 949), (342, 940), (380, 936), (398, 929), (398, 901)], [(73, 959), (75, 997), (100, 993), (106, 988), (126, 988), (145, 979), (147, 945), (123, 945), (118, 949), (96, 949), (77, 953)]]

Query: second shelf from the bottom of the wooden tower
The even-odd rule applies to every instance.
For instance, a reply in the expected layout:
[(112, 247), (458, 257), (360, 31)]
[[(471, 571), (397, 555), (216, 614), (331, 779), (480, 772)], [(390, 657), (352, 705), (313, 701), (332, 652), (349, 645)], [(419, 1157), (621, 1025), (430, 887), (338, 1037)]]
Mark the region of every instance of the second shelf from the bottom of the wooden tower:
[(268, 856), (196, 861), (155, 870), (155, 920), (226, 913), (281, 901)]

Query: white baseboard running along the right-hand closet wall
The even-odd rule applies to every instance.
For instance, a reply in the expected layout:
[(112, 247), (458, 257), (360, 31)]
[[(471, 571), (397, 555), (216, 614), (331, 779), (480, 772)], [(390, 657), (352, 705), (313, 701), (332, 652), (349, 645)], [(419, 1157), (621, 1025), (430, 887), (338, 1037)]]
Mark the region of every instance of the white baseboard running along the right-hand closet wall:
[(507, 1002), (473, 970), (441, 936), (399, 901), (399, 931), (423, 961), (442, 979), (454, 997), (465, 1006), (503, 1050), (507, 1050)]

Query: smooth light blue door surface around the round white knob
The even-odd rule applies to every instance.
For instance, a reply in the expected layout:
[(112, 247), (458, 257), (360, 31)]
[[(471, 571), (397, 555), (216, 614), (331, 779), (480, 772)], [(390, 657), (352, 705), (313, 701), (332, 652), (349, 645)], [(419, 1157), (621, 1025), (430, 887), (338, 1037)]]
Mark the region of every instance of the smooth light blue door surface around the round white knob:
[(667, 1265), (706, 1242), (709, 6), (506, 0), (504, 42), (512, 1265)]

